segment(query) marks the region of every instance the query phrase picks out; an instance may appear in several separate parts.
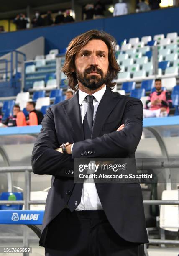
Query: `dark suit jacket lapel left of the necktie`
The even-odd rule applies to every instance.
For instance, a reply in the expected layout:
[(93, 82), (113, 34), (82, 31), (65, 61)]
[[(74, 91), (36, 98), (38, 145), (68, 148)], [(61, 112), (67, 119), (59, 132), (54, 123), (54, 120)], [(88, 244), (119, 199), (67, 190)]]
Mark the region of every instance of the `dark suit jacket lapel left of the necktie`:
[(69, 117), (72, 126), (72, 136), (74, 138), (74, 142), (83, 141), (84, 133), (82, 127), (82, 116), (79, 105), (78, 91), (71, 100), (69, 100), (68, 102), (66, 102), (66, 104), (63, 105), (63, 107), (66, 114)]

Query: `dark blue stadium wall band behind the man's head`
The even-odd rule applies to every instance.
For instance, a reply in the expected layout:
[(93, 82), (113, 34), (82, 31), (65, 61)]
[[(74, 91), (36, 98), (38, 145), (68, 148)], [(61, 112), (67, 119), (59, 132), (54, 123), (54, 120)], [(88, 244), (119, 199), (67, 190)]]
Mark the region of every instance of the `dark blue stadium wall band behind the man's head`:
[[(148, 36), (169, 32), (179, 33), (179, 8), (166, 8), (114, 18), (88, 20), (57, 26), (0, 34), (0, 50), (16, 49), (40, 36), (45, 38), (45, 54), (51, 49), (65, 48), (69, 41), (90, 29), (102, 29), (116, 39)], [(169, 18), (172, 17), (172, 18)]]

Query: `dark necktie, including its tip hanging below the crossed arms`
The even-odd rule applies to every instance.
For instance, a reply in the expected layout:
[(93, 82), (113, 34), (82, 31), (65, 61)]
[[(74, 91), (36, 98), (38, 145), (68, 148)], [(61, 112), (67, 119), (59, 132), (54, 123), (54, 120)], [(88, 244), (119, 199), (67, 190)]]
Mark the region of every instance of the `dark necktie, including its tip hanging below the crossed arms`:
[[(88, 138), (91, 138), (91, 133), (92, 133), (93, 113), (94, 113), (94, 106), (93, 106), (94, 96), (87, 95), (85, 98), (88, 102), (88, 107), (87, 107), (87, 112), (86, 112), (86, 114), (84, 116), (84, 120), (83, 120), (83, 131), (84, 131), (84, 139), (88, 139)], [(74, 209), (77, 208), (77, 206), (81, 202), (82, 189), (83, 189), (83, 183), (74, 184), (74, 189), (72, 191), (72, 195), (68, 201), (68, 207), (71, 212), (73, 212)]]

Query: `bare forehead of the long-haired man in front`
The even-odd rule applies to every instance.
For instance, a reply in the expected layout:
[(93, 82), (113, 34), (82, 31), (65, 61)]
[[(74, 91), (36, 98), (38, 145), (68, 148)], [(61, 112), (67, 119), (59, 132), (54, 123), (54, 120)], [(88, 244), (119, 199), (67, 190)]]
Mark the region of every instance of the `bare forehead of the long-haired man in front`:
[(92, 39), (85, 46), (83, 46), (82, 49), (80, 49), (80, 51), (82, 50), (89, 50), (89, 51), (96, 50), (96, 51), (108, 52), (108, 47), (104, 41), (100, 39)]

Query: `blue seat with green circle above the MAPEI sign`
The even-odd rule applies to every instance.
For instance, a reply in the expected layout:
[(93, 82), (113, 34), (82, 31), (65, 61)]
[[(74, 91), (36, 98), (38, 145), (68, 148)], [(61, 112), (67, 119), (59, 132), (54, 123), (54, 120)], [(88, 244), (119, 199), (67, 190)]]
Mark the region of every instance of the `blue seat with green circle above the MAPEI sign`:
[[(23, 200), (22, 192), (2, 192), (0, 194), (0, 200)], [(23, 205), (0, 205), (0, 210), (22, 210)]]

